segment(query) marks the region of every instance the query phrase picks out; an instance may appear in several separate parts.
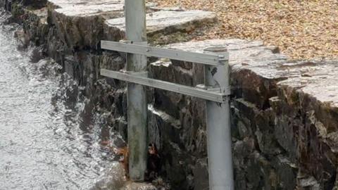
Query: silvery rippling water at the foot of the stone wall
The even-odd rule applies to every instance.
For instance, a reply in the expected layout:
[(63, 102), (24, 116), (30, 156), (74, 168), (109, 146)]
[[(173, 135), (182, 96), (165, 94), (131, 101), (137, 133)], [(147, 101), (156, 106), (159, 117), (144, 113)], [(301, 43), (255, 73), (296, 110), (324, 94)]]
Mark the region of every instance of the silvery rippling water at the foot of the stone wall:
[(90, 113), (60, 66), (31, 63), (32, 50), (18, 51), (13, 28), (0, 19), (0, 189), (91, 189), (99, 179), (102, 186), (123, 180), (99, 144), (101, 116)]

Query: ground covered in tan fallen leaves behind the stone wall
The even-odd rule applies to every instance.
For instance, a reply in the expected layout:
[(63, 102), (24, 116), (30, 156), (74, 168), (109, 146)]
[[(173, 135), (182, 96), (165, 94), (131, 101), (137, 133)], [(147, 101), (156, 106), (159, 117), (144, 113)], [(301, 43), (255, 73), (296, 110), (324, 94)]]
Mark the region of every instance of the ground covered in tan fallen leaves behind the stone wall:
[(158, 6), (215, 11), (200, 39), (258, 39), (292, 59), (338, 58), (337, 0), (149, 0)]

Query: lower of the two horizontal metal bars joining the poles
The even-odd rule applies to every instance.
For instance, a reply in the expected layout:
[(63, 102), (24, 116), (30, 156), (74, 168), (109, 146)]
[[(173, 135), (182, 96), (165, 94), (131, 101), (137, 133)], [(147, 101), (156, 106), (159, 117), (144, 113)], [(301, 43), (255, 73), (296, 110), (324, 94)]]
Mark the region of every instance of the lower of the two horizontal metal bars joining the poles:
[(118, 80), (124, 80), (126, 82), (132, 82), (135, 84), (142, 84), (147, 87), (154, 87), (157, 89), (164, 89), (168, 91), (174, 91), (180, 94), (188, 96), (194, 96), (200, 99), (206, 99), (209, 101), (215, 101), (223, 103), (227, 100), (227, 94), (222, 94), (216, 91), (208, 91), (205, 89), (199, 89), (196, 87), (188, 87), (181, 84), (175, 84), (172, 82), (165, 82), (162, 80), (155, 80), (148, 77), (140, 77), (139, 75), (129, 75), (124, 72), (118, 72), (113, 70), (101, 69), (101, 75), (105, 77), (111, 77)]

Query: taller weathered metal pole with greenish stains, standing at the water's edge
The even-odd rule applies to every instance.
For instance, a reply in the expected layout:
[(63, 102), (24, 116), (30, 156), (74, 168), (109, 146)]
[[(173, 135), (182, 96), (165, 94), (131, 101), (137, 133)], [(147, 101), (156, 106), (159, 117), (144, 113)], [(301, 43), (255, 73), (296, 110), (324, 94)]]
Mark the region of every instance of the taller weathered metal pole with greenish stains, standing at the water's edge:
[[(134, 44), (146, 44), (145, 0), (125, 0), (126, 38)], [(127, 71), (146, 76), (146, 56), (127, 54)], [(132, 181), (144, 181), (146, 171), (146, 91), (142, 85), (127, 84), (129, 175)]]

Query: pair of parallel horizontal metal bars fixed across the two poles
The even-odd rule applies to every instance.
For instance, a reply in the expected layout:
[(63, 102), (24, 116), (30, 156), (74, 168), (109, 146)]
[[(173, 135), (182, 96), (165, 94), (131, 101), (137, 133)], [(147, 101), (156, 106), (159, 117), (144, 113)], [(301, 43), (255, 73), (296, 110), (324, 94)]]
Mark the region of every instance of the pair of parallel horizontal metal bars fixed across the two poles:
[[(120, 51), (123, 53), (135, 53), (160, 58), (171, 58), (178, 61), (189, 61), (192, 63), (201, 63), (204, 65), (227, 66), (226, 58), (228, 57), (227, 53), (224, 53), (223, 55), (215, 55), (211, 53), (195, 53), (174, 49), (154, 48), (151, 46), (142, 46), (137, 44), (125, 44), (123, 42), (101, 41), (101, 48), (111, 51)], [(147, 51), (149, 49), (151, 49), (151, 51)], [(137, 75), (139, 73), (147, 75), (147, 73), (144, 72), (119, 72), (101, 69), (101, 75), (105, 77), (124, 80), (126, 82), (132, 82), (134, 84), (142, 84), (147, 87), (154, 87), (158, 89), (174, 91), (180, 94), (194, 96), (208, 101), (223, 103), (227, 101), (227, 96), (230, 95), (230, 88), (226, 88), (227, 89), (226, 91), (221, 91), (220, 87), (206, 87), (205, 85), (204, 87), (202, 87), (201, 85), (199, 85), (199, 87), (189, 87), (186, 85), (175, 84), (172, 82), (151, 79), (149, 77), (144, 77), (143, 75)]]

